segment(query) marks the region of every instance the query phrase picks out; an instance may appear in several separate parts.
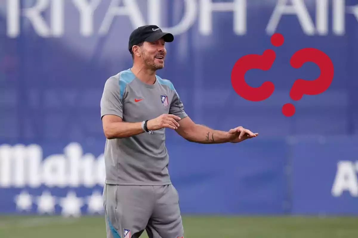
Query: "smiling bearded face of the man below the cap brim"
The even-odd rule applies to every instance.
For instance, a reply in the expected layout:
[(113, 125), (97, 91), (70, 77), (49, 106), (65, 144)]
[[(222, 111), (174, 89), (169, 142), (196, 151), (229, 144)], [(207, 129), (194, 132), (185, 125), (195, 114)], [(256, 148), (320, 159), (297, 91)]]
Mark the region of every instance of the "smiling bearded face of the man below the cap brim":
[(144, 63), (153, 70), (163, 69), (166, 49), (165, 41), (159, 39), (154, 42), (144, 42), (141, 46)]

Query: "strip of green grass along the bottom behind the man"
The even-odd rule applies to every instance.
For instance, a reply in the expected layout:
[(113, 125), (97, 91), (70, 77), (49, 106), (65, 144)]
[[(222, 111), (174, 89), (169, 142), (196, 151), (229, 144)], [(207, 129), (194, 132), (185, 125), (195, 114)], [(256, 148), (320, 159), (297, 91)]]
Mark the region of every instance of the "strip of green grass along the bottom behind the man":
[[(185, 238), (357, 238), (358, 217), (183, 216)], [(0, 216), (1, 238), (105, 238), (101, 216)], [(141, 238), (146, 238), (142, 234)]]

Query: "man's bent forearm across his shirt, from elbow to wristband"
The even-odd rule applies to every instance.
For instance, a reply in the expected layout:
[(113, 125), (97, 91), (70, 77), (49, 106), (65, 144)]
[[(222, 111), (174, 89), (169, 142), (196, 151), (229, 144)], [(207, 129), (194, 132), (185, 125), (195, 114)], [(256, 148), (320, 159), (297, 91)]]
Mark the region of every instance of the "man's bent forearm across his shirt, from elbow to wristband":
[(144, 132), (142, 122), (112, 122), (104, 131), (107, 139), (131, 137)]

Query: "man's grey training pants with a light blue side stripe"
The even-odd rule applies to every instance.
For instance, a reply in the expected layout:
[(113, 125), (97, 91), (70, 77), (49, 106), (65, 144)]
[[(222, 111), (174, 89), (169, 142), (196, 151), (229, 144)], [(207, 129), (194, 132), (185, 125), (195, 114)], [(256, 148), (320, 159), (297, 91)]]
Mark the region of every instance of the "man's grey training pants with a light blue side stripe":
[(178, 192), (164, 186), (109, 185), (103, 190), (107, 238), (182, 238)]

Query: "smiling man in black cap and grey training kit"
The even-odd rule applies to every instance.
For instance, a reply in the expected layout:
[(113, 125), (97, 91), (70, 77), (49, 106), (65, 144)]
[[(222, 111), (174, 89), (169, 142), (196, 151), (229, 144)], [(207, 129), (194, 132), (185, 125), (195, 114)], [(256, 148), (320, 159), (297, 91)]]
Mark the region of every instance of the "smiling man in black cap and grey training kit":
[(184, 237), (179, 196), (170, 182), (165, 128), (197, 143), (241, 142), (257, 133), (228, 132), (197, 125), (163, 69), (165, 42), (174, 36), (158, 26), (135, 29), (129, 38), (133, 67), (107, 79), (101, 99), (106, 185), (103, 191), (107, 238)]

